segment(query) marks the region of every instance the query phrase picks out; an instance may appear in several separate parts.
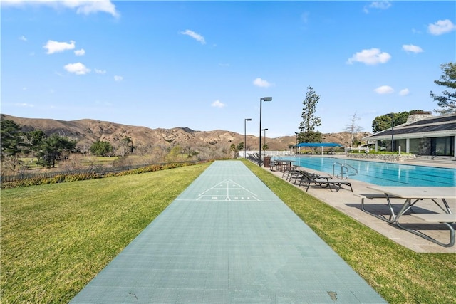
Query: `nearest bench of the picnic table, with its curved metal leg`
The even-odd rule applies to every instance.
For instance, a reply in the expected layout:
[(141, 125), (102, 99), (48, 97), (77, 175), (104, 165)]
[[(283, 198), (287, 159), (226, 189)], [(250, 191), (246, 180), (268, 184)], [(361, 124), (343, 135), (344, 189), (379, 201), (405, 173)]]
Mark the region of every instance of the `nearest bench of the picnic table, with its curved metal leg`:
[(450, 230), (450, 241), (448, 243), (442, 243), (440, 241), (437, 241), (436, 239), (428, 236), (427, 234), (423, 234), (423, 232), (416, 231), (414, 229), (406, 229), (404, 226), (401, 226), (398, 223), (398, 226), (400, 228), (403, 228), (413, 234), (416, 234), (417, 236), (421, 236), (424, 239), (427, 239), (428, 241), (432, 241), (432, 243), (437, 243), (440, 246), (443, 247), (451, 247), (455, 245), (455, 229), (452, 227), (452, 224), (456, 223), (456, 214), (411, 214), (411, 216), (420, 219), (422, 221), (425, 221), (426, 223), (430, 224), (443, 224), (447, 226), (447, 228)]

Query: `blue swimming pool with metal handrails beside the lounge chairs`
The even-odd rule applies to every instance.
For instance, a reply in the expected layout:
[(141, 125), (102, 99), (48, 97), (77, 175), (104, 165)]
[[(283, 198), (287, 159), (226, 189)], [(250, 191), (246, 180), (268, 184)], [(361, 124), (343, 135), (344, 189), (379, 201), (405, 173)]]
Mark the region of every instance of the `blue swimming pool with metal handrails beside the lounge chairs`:
[[(333, 174), (333, 164), (348, 164), (358, 170), (351, 176), (361, 182), (379, 186), (412, 186), (412, 187), (455, 187), (456, 169), (396, 164), (391, 162), (370, 162), (366, 160), (341, 159), (335, 157), (278, 157), (279, 159), (296, 160), (300, 167)], [(335, 166), (340, 174), (341, 166)]]

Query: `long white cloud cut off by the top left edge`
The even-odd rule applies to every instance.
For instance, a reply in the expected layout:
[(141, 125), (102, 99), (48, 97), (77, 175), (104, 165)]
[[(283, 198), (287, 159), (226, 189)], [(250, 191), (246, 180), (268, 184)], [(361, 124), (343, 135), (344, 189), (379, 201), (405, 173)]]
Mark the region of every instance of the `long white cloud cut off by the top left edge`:
[(1, 0), (1, 5), (5, 6), (51, 6), (53, 9), (75, 9), (77, 14), (95, 14), (102, 11), (119, 17), (119, 12), (115, 9), (115, 5), (110, 0)]

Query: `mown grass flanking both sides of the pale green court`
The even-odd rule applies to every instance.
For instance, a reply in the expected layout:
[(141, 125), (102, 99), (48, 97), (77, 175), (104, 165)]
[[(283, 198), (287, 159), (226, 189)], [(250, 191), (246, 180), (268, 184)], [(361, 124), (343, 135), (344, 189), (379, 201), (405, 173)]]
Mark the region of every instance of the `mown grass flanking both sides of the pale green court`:
[[(456, 303), (456, 254), (414, 253), (245, 164), (388, 302)], [(2, 190), (1, 303), (68, 302), (208, 166)]]

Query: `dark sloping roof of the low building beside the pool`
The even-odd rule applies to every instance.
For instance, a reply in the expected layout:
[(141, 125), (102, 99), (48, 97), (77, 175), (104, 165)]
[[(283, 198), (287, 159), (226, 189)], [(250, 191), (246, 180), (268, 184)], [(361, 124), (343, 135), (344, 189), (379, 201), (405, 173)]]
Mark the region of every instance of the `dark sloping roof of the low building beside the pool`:
[(389, 140), (391, 135), (396, 140), (405, 138), (421, 137), (445, 137), (456, 135), (456, 114), (434, 116), (418, 120), (416, 122), (405, 123), (375, 133), (364, 140)]

